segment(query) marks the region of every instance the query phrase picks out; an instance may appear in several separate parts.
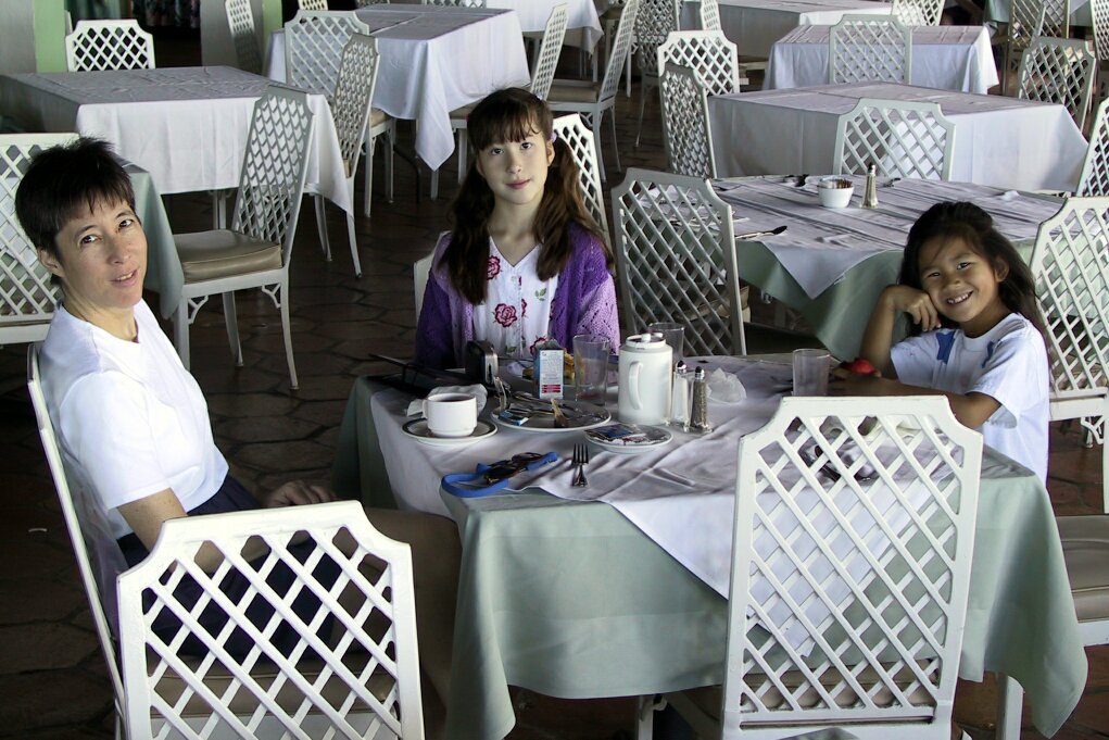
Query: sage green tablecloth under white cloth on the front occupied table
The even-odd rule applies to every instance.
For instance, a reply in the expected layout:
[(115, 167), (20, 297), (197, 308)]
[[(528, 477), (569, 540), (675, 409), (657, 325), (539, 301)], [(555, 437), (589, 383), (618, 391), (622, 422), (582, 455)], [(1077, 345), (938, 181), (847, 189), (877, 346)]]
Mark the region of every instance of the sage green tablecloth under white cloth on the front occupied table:
[[(381, 387), (355, 384), (334, 484), (367, 505), (395, 506), (373, 429), (372, 398)], [(381, 398), (399, 408), (397, 395)], [(507, 456), (522, 450), (522, 436), (494, 439)], [(542, 449), (552, 440), (527, 436), (523, 444)], [(434, 454), (449, 466), (450, 450)], [(1007, 458), (987, 453), (983, 478), (959, 675), (1015, 678), (1037, 729), (1050, 736), (1086, 682), (1055, 517), (1039, 480)], [(444, 499), (462, 538), (449, 738), (507, 734), (515, 724), (509, 685), (578, 699), (721, 682), (725, 599), (614, 508), (538, 490)]]

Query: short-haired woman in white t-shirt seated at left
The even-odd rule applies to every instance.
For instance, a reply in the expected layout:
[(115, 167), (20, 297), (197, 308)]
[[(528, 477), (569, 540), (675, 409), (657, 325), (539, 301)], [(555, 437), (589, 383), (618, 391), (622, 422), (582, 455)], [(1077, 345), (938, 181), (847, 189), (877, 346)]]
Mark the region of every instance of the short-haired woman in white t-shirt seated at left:
[[(81, 139), (40, 153), (20, 183), (16, 211), (62, 288), (42, 346), (42, 384), (67, 469), (78, 484), (74, 495), (100, 510), (129, 565), (146, 557), (167, 519), (334, 499), (326, 488), (293, 481), (260, 504), (228, 474), (212, 438), (204, 396), (142, 301), (146, 239), (130, 178), (105, 143)], [(370, 519), (387, 536), (411, 545), (420, 658), (436, 692), (446, 697), (457, 528), (446, 518), (416, 513), (376, 510)], [(297, 557), (307, 557), (311, 547), (302, 545)], [(210, 572), (221, 560), (214, 548), (197, 557)], [(327, 558), (318, 567), (325, 580), (337, 575)], [(277, 568), (268, 580), (275, 589), (287, 589), (292, 574)], [(237, 572), (221, 582), (233, 599), (247, 587)], [(175, 592), (190, 602), (201, 589), (185, 578)], [(316, 601), (305, 592), (293, 606), (311, 616)], [(252, 606), (247, 617), (264, 627), (271, 612), (258, 607)], [(155, 629), (172, 635), (179, 627), (174, 620), (163, 609)], [(201, 621), (215, 633), (226, 615), (211, 605)], [(278, 628), (274, 642), (279, 648), (295, 645), (288, 630), (287, 622)], [(329, 637), (328, 626), (321, 631)], [(226, 647), (245, 655), (253, 642), (236, 630)], [(183, 648), (202, 649), (199, 641)]]

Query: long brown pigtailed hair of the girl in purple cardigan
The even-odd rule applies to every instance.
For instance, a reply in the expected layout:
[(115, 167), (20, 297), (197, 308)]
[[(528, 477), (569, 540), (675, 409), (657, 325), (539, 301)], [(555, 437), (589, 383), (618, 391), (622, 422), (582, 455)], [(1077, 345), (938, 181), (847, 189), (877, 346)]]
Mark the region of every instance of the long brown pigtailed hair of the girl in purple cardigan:
[[(553, 138), (550, 108), (519, 88), (498, 90), (486, 97), (470, 113), (466, 128), (475, 152), (495, 143), (522, 141), (537, 131), (547, 141)], [(450, 206), (454, 231), (450, 246), (444, 255), (450, 284), (474, 304), (481, 303), (486, 297), (488, 224), (492, 210), (492, 191), (477, 171), (475, 161)], [(547, 173), (547, 184), (532, 227), (541, 244), (537, 265), (539, 280), (550, 280), (566, 267), (572, 252), (570, 231), (574, 224), (598, 237), (604, 245), (606, 259), (611, 266), (612, 254), (607, 240), (581, 199), (578, 165), (573, 162), (570, 148), (566, 142), (554, 141), (554, 159)]]

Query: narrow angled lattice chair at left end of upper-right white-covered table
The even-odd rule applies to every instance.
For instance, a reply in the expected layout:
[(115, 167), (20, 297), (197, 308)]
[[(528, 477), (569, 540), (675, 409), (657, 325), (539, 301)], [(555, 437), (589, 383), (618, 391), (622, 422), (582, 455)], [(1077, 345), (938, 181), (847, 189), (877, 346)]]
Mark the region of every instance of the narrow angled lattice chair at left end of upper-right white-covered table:
[(714, 180), (716, 161), (709, 130), (709, 95), (701, 77), (689, 67), (667, 64), (661, 85), (662, 141), (670, 171)]

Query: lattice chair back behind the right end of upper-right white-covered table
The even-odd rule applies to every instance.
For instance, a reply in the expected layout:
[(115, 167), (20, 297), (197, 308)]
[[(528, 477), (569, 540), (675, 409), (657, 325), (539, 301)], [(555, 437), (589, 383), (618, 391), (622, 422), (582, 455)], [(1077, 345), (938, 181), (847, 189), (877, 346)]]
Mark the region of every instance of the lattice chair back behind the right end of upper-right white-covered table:
[(1036, 37), (1020, 60), (1017, 98), (1065, 107), (1081, 131), (1097, 69), (1088, 41)]

